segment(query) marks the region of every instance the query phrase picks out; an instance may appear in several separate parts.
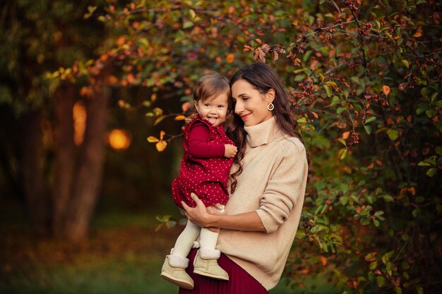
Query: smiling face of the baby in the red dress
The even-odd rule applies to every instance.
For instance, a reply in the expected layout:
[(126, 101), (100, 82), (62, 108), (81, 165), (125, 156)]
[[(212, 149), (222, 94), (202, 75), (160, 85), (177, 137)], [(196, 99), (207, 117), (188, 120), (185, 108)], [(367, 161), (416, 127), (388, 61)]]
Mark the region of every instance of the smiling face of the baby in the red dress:
[(217, 97), (210, 97), (204, 102), (199, 100), (198, 102), (193, 103), (195, 104), (198, 114), (216, 127), (226, 121), (228, 107), (227, 99), (227, 94), (220, 94)]

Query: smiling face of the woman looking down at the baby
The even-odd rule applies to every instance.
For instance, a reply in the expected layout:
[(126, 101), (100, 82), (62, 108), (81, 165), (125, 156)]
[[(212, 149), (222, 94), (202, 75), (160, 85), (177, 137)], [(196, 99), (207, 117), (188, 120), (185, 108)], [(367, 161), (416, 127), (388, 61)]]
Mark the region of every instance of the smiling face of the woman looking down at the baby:
[(261, 94), (246, 80), (237, 80), (232, 85), (232, 99), (235, 103), (235, 114), (244, 121), (244, 125), (251, 126), (267, 121), (273, 116), (267, 109), (275, 99), (275, 90)]

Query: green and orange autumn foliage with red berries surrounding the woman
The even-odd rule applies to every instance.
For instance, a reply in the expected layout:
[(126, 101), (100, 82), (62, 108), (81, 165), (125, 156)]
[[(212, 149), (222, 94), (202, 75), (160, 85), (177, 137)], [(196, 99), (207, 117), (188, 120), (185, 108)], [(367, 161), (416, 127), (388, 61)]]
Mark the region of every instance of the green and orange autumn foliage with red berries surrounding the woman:
[[(438, 1), (108, 2), (87, 17), (111, 37), (64, 78), (88, 77), (87, 94), (110, 64), (101, 82), (148, 88), (158, 151), (179, 135), (163, 121), (186, 121), (203, 73), (261, 61), (280, 74), (314, 174), (285, 271), (293, 287), (325, 272), (342, 293), (441, 290)], [(158, 106), (169, 97), (182, 113)]]

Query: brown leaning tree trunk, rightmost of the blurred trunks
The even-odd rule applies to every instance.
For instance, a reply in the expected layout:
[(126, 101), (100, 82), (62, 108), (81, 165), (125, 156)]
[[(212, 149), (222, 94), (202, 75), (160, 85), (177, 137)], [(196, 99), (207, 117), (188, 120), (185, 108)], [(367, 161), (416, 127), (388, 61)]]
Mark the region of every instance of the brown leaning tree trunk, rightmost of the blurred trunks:
[(85, 137), (65, 226), (66, 237), (73, 242), (83, 240), (88, 235), (90, 218), (102, 180), (109, 90), (107, 87), (95, 87), (94, 94), (85, 105)]

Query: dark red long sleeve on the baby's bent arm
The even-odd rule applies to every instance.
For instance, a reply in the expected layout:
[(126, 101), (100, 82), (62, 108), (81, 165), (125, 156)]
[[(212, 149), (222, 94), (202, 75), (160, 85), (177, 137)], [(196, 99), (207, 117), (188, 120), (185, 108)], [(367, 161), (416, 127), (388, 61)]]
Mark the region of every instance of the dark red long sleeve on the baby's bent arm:
[(189, 154), (191, 157), (208, 159), (224, 156), (224, 144), (210, 144), (208, 143), (209, 137), (210, 131), (207, 125), (197, 123), (192, 126), (189, 132)]

